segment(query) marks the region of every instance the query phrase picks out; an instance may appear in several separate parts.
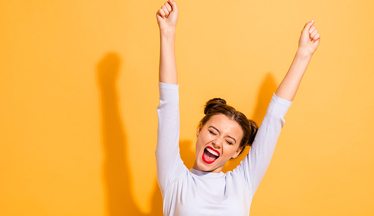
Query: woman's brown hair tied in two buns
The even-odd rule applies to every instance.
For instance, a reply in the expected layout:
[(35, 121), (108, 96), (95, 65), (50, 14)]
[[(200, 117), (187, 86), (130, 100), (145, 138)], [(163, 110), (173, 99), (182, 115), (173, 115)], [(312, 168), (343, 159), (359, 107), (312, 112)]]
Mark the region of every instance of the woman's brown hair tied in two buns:
[(230, 119), (235, 120), (240, 125), (240, 127), (243, 129), (243, 138), (240, 142), (239, 148), (243, 148), (239, 155), (242, 154), (244, 148), (247, 145), (252, 145), (254, 136), (256, 135), (258, 130), (257, 124), (254, 121), (248, 119), (242, 112), (237, 111), (231, 106), (228, 106), (225, 100), (221, 98), (213, 98), (207, 101), (204, 108), (204, 114), (205, 116), (199, 122), (199, 125), (201, 124), (201, 127), (203, 127), (213, 115), (217, 114), (224, 114)]

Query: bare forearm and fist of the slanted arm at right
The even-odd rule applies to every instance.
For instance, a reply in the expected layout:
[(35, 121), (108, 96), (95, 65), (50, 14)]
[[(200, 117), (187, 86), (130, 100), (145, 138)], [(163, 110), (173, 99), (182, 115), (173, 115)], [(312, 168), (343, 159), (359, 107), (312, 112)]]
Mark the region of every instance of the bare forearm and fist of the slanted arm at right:
[(287, 74), (280, 82), (275, 94), (285, 100), (293, 101), (301, 79), (311, 61), (312, 54), (319, 45), (320, 35), (315, 28), (314, 20), (305, 24), (299, 39), (299, 48), (295, 54)]

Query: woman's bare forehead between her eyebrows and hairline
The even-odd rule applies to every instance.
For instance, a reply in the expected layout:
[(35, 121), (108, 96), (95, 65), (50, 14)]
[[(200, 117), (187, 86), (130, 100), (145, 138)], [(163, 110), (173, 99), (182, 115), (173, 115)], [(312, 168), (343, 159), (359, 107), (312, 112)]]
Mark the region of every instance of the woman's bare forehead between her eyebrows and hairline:
[(209, 126), (214, 126), (220, 133), (225, 133), (227, 135), (233, 135), (235, 137), (241, 137), (243, 135), (243, 129), (240, 127), (239, 123), (224, 114), (213, 115), (204, 125), (205, 128)]

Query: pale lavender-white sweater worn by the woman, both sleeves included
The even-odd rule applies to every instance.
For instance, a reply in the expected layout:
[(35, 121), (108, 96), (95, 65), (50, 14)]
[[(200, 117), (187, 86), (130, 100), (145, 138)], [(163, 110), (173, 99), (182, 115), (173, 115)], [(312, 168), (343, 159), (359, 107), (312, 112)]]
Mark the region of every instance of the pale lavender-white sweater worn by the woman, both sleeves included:
[(249, 154), (226, 173), (187, 169), (179, 154), (179, 84), (158, 82), (157, 182), (164, 216), (249, 216), (291, 101), (273, 97)]

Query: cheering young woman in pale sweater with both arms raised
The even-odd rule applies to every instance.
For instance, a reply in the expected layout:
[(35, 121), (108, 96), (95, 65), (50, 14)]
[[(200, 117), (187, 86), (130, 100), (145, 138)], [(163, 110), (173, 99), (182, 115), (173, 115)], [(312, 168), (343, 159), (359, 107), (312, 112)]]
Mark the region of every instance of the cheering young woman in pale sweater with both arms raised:
[[(215, 98), (206, 103), (197, 128), (196, 161), (187, 169), (179, 154), (179, 93), (175, 62), (175, 30), (178, 6), (166, 1), (156, 13), (160, 29), (159, 105), (156, 147), (157, 181), (163, 198), (163, 214), (178, 216), (248, 216), (252, 197), (273, 156), (284, 116), (317, 49), (320, 35), (305, 24), (292, 64), (273, 94), (265, 117), (257, 125)], [(253, 143), (253, 144), (252, 144)], [(233, 171), (223, 165), (251, 146)]]

